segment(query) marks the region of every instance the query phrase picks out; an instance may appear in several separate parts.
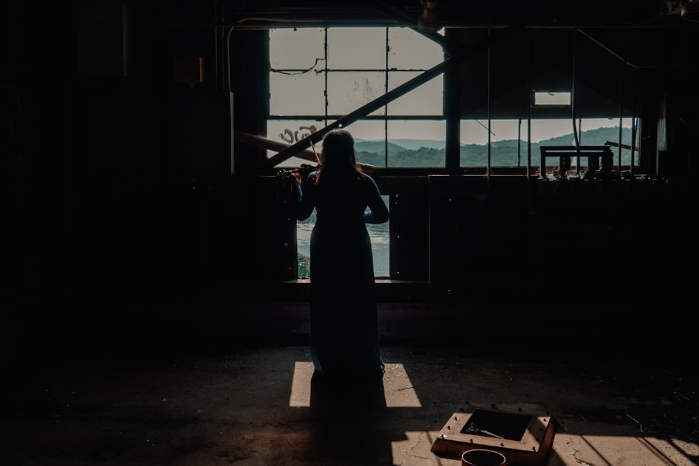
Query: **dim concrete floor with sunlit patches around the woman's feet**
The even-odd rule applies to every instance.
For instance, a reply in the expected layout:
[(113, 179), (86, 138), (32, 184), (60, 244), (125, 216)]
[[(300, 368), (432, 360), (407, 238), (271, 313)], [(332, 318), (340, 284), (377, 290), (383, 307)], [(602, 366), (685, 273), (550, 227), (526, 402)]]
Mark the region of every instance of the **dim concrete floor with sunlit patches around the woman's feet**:
[(201, 343), (15, 355), (0, 464), (457, 466), (431, 451), (435, 439), (460, 408), (492, 404), (554, 418), (551, 448), (532, 457), (540, 465), (699, 464), (699, 392), (677, 367), (546, 341), (531, 357), (503, 344), (389, 340), (382, 381), (331, 386), (303, 342)]

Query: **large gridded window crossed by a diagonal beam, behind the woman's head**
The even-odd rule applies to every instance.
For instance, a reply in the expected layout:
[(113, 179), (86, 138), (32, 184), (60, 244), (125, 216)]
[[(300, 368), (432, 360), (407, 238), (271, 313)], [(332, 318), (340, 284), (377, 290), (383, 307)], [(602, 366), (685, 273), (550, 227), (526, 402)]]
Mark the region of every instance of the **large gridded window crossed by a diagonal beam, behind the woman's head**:
[[(269, 50), (267, 134), (289, 144), (444, 59), (440, 45), (401, 27), (271, 29)], [(444, 167), (443, 101), (438, 75), (356, 119), (347, 129), (359, 161), (378, 168)], [(304, 162), (292, 157), (280, 166)]]

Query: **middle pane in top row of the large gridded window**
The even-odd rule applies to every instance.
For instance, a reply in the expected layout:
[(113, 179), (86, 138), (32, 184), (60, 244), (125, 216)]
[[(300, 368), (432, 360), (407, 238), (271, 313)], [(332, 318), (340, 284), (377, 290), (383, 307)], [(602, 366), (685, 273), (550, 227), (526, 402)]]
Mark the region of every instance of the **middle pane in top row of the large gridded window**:
[(383, 70), (386, 68), (386, 29), (329, 28), (328, 68)]

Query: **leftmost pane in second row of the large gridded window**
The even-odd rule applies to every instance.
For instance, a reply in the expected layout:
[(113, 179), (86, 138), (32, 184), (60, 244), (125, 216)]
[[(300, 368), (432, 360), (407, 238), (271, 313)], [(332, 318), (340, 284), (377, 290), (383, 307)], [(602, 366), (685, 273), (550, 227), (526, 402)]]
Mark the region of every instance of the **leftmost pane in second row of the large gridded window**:
[(325, 81), (322, 73), (269, 75), (271, 115), (325, 115)]

